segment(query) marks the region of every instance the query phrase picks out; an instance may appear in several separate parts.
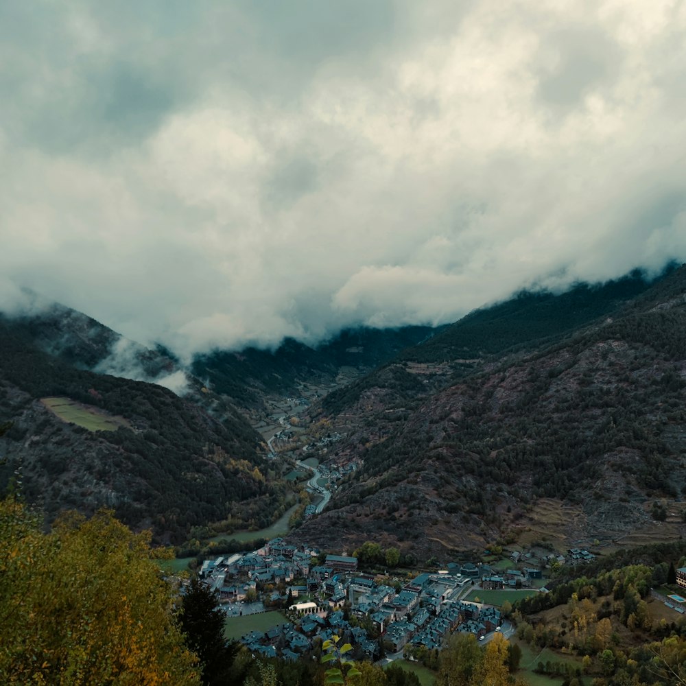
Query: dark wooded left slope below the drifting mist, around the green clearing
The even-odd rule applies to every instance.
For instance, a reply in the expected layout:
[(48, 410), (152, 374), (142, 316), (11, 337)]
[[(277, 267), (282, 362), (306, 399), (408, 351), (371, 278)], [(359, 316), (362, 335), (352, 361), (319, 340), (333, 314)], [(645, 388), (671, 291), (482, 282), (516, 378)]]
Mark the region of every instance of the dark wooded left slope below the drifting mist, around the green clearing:
[[(19, 469), (25, 497), (48, 517), (106, 505), (173, 541), (230, 516), (267, 523), (283, 492), (265, 482), (259, 436), (220, 397), (196, 394), (211, 414), (160, 386), (75, 368), (39, 349), (26, 322), (0, 319), (0, 417), (14, 422), (0, 439), (0, 487)], [(102, 418), (120, 426), (91, 431), (64, 421), (47, 407), (53, 397), (86, 426)]]

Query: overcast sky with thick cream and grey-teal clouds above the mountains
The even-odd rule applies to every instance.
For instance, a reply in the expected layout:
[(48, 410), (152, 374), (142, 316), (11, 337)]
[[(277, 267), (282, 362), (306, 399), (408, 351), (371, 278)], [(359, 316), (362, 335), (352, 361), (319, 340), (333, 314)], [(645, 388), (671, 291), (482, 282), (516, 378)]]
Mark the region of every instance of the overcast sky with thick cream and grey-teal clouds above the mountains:
[(182, 357), (686, 259), (686, 3), (0, 0), (0, 309)]

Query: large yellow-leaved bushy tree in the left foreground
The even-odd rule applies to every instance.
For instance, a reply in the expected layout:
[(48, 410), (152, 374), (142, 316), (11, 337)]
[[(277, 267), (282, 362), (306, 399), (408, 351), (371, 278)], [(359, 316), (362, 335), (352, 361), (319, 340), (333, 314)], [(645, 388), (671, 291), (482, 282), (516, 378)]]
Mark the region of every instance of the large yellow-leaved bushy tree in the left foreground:
[(112, 512), (66, 514), (44, 534), (21, 502), (0, 501), (0, 683), (199, 685), (150, 554), (150, 535)]

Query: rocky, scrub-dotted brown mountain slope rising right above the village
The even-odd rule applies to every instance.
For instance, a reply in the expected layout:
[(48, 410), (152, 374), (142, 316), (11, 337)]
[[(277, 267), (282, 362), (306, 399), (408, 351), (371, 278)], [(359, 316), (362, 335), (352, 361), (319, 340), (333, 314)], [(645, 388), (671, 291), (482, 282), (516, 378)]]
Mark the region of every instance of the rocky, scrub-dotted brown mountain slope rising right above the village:
[(484, 358), (412, 412), (365, 390), (351, 414), (378, 401), (399, 420), (356, 427), (342, 452), (362, 468), (298, 536), (373, 532), (428, 554), (482, 545), (541, 497), (576, 508), (570, 536), (619, 535), (648, 519), (646, 499), (683, 495), (685, 379), (682, 267), (564, 340)]

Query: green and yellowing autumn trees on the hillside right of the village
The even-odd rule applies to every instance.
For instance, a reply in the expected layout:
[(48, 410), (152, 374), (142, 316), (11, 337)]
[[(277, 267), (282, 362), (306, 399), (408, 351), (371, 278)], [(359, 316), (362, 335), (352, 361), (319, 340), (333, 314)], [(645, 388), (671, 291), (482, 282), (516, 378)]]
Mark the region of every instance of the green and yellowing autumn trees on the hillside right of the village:
[[(657, 564), (606, 569), (519, 601), (514, 613), (518, 637), (535, 650), (576, 653), (582, 672), (595, 676), (594, 686), (683, 683), (686, 620), (676, 611), (672, 622), (657, 620), (649, 604), (659, 602), (650, 598), (652, 585), (664, 583), (670, 565), (673, 569), (674, 558), (670, 563), (665, 559), (670, 552), (683, 552), (683, 543), (639, 551), (641, 558), (655, 554)], [(538, 665), (545, 674), (562, 668), (556, 661)]]

